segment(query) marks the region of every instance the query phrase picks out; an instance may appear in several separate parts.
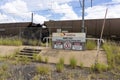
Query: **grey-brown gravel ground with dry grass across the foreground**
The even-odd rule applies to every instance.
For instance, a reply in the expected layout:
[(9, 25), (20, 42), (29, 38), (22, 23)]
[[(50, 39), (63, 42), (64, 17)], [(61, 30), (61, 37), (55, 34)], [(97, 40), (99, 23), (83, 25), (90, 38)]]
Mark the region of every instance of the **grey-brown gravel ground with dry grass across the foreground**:
[[(115, 75), (111, 72), (104, 72), (102, 74), (91, 73), (89, 68), (81, 69), (76, 67), (72, 69), (70, 66), (65, 66), (63, 72), (57, 72), (55, 64), (31, 62), (26, 65), (13, 65), (8, 62), (0, 62), (0, 66), (3, 64), (7, 64), (8, 66), (8, 70), (6, 71), (8, 75), (0, 73), (1, 80), (96, 80), (95, 77), (91, 77), (93, 74), (94, 76), (102, 75), (100, 78), (98, 76), (97, 80), (120, 80), (120, 77), (114, 79)], [(38, 74), (36, 66), (47, 66), (50, 71), (47, 74)]]

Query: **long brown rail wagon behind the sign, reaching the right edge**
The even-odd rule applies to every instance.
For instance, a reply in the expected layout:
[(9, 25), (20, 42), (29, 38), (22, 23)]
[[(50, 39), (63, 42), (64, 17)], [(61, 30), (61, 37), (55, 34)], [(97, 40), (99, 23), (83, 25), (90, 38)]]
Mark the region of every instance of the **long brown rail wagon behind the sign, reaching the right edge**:
[[(100, 38), (102, 31), (103, 19), (85, 20), (85, 32), (87, 37)], [(64, 20), (64, 21), (46, 21), (50, 33), (56, 32), (57, 29), (68, 32), (80, 32), (82, 29), (82, 20)], [(120, 39), (120, 18), (106, 19), (103, 38)]]

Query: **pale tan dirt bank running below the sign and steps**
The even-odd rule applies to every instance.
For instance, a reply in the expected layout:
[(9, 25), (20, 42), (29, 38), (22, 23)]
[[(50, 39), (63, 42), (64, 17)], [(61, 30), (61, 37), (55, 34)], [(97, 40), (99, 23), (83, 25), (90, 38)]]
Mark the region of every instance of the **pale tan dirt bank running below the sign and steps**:
[[(86, 50), (86, 51), (72, 51), (72, 50), (55, 50), (45, 47), (33, 47), (33, 46), (0, 46), (0, 56), (9, 55), (15, 51), (21, 50), (24, 47), (29, 48), (39, 48), (42, 51), (40, 55), (42, 58), (48, 57), (49, 63), (57, 63), (62, 57), (65, 59), (65, 64), (69, 64), (71, 57), (75, 57), (77, 60), (77, 65), (82, 63), (84, 67), (90, 67), (95, 63), (97, 50)], [(104, 51), (100, 51), (98, 55), (98, 61), (103, 64), (107, 64), (106, 54)]]

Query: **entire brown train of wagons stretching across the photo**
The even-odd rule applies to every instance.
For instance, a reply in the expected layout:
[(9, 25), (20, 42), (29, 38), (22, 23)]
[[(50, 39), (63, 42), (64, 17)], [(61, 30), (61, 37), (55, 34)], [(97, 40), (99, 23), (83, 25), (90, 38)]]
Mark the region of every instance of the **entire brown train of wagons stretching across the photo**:
[[(87, 37), (100, 38), (103, 19), (85, 20), (85, 32)], [(31, 22), (23, 23), (1, 23), (0, 37), (18, 36), (26, 39), (41, 39), (48, 37), (49, 33), (56, 32), (57, 29), (68, 32), (80, 32), (82, 20), (46, 21), (43, 28), (41, 24)], [(106, 19), (103, 38), (120, 40), (120, 18)]]

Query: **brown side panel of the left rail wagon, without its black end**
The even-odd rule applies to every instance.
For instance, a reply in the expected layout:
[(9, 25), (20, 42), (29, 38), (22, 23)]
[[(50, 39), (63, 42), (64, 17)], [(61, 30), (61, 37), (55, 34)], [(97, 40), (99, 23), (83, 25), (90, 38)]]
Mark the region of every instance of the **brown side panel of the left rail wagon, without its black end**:
[(12, 37), (20, 36), (24, 29), (30, 26), (31, 22), (24, 23), (2, 23), (0, 24), (0, 36), (1, 37)]

